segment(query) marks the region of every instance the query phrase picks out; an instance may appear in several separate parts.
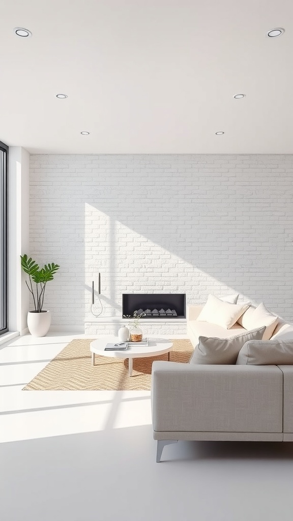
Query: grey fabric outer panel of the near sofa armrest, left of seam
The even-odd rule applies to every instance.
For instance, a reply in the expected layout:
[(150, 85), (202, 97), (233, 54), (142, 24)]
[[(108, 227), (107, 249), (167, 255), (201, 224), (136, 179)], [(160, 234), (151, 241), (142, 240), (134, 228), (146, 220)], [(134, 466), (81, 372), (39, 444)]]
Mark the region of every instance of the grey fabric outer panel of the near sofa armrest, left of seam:
[(154, 431), (283, 430), (283, 375), (277, 366), (154, 362), (151, 397)]

